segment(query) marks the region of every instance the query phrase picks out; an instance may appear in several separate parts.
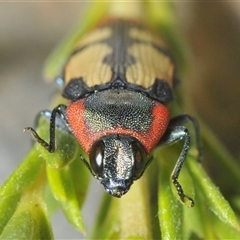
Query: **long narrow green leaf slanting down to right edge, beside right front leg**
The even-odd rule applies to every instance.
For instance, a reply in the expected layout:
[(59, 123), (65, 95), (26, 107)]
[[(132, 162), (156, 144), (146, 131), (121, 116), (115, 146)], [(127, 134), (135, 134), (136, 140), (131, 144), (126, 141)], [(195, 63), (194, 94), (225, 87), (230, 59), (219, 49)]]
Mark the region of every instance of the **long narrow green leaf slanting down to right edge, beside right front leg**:
[(190, 172), (192, 172), (192, 177), (195, 179), (195, 183), (201, 189), (210, 209), (219, 217), (219, 219), (221, 219), (221, 221), (229, 224), (233, 228), (239, 229), (239, 223), (232, 208), (224, 199), (219, 189), (204, 172), (202, 166), (194, 161), (194, 159), (188, 161), (187, 165)]

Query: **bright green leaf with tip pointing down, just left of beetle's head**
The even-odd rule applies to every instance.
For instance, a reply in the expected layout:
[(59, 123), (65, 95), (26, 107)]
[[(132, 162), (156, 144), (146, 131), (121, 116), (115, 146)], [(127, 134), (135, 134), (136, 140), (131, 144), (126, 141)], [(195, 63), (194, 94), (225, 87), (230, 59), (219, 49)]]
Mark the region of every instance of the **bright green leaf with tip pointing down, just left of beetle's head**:
[(60, 203), (69, 222), (81, 232), (85, 230), (80, 208), (89, 183), (89, 173), (86, 171), (86, 167), (79, 159), (59, 170), (47, 166), (53, 195)]

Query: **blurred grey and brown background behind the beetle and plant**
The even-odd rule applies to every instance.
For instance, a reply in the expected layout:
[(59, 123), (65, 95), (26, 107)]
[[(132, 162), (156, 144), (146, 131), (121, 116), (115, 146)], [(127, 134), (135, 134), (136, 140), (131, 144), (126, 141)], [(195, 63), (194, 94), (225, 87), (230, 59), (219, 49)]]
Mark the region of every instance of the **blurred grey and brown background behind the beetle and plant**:
[[(182, 81), (195, 110), (239, 159), (240, 3), (176, 2), (175, 6), (192, 51), (192, 70)], [(49, 106), (57, 89), (44, 82), (44, 61), (83, 11), (84, 3), (0, 3), (1, 184), (31, 146), (30, 134), (22, 129), (32, 126), (36, 113)], [(93, 190), (92, 196), (101, 191)], [(87, 229), (94, 216), (92, 206), (97, 206), (95, 197), (89, 199), (92, 202), (84, 209)], [(55, 237), (79, 238), (60, 215), (54, 217)]]

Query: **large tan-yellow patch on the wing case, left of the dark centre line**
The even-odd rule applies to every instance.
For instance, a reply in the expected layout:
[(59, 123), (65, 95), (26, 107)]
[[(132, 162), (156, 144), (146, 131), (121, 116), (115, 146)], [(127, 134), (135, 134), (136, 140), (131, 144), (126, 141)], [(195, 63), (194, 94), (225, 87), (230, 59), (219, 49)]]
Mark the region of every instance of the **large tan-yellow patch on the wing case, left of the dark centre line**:
[(65, 84), (80, 77), (89, 87), (109, 82), (111, 67), (104, 64), (103, 59), (111, 53), (112, 48), (104, 43), (93, 44), (75, 53), (65, 67)]

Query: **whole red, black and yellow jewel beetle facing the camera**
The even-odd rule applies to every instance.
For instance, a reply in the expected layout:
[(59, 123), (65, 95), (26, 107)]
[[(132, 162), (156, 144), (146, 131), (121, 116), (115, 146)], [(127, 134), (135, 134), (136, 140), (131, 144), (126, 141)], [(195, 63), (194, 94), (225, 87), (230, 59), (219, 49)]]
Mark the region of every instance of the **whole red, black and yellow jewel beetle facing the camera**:
[(61, 79), (70, 103), (51, 112), (49, 143), (25, 128), (36, 141), (55, 151), (59, 116), (88, 154), (89, 162), (81, 160), (92, 175), (107, 193), (121, 197), (142, 176), (154, 148), (183, 140), (171, 180), (180, 199), (194, 204), (178, 176), (190, 147), (183, 124), (193, 123), (201, 151), (198, 122), (187, 114), (170, 118), (166, 105), (173, 100), (175, 64), (158, 35), (137, 21), (107, 19), (79, 40)]

